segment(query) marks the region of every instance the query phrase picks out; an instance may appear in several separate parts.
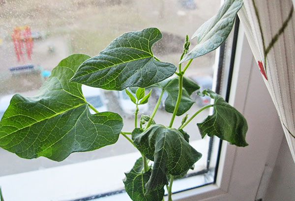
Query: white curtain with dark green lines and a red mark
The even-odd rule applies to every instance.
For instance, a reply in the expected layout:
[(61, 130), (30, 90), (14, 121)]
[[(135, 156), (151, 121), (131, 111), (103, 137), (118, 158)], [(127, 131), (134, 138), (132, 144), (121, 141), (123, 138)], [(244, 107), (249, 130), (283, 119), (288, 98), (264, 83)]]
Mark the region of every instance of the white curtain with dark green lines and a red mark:
[(245, 27), (257, 66), (275, 104), (295, 161), (293, 3), (295, 0), (244, 0), (244, 6), (238, 16)]

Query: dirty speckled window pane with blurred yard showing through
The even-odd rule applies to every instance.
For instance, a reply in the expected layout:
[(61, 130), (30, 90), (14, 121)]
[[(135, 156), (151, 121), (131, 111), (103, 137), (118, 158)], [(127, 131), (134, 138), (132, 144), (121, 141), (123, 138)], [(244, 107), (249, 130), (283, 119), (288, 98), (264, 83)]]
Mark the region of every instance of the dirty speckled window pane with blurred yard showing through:
[[(113, 39), (125, 32), (156, 27), (163, 38), (153, 47), (161, 61), (178, 66), (185, 35), (191, 36), (220, 6), (216, 0), (0, 0), (0, 116), (15, 93), (34, 96), (51, 70), (60, 60), (74, 53), (97, 55)], [(28, 39), (28, 38), (31, 38)], [(196, 45), (191, 41), (191, 48)], [(186, 74), (201, 89), (212, 87), (215, 52), (195, 59)], [(135, 105), (126, 100), (124, 92), (104, 91), (84, 87), (86, 99), (99, 111), (113, 111), (124, 118), (123, 131), (132, 131)], [(140, 114), (150, 115), (160, 95), (152, 90), (148, 104)], [(206, 105), (208, 99), (192, 95), (196, 104), (187, 112), (193, 114)], [(165, 100), (165, 99), (164, 99)], [(194, 171), (207, 167), (208, 140), (203, 143), (196, 123), (203, 121), (209, 110), (203, 111), (185, 131), (203, 158)], [(155, 122), (168, 125), (170, 113), (165, 112), (164, 101)], [(140, 115), (139, 115), (140, 118)], [(182, 117), (177, 117), (175, 126)], [(125, 138), (115, 145), (87, 153), (71, 154), (57, 163), (46, 158), (25, 160), (0, 149), (0, 176), (27, 172), (65, 164), (74, 164), (135, 152)], [(130, 164), (130, 169), (133, 164)], [(128, 171), (126, 169), (125, 171)]]

